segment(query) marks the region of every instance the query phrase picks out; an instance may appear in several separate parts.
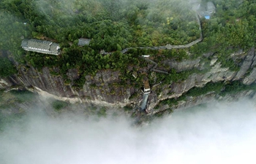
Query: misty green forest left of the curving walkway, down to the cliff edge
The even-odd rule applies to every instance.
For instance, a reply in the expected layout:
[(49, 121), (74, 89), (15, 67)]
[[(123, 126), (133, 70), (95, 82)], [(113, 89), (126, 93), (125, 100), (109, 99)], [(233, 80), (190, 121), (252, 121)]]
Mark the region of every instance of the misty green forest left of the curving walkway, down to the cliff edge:
[[(178, 0), (4, 0), (0, 11), (0, 50), (10, 50), (16, 60), (27, 61), (37, 69), (60, 66), (64, 79), (67, 69), (78, 69), (76, 87), (83, 84), (86, 74), (100, 69), (121, 70), (125, 78), (130, 77), (124, 70), (139, 64), (140, 52), (121, 54), (126, 47), (187, 44), (200, 34), (195, 13)], [(25, 52), (20, 48), (22, 37), (59, 42), (62, 53)], [(89, 46), (78, 47), (80, 37), (91, 39)], [(100, 50), (119, 51), (103, 56)]]

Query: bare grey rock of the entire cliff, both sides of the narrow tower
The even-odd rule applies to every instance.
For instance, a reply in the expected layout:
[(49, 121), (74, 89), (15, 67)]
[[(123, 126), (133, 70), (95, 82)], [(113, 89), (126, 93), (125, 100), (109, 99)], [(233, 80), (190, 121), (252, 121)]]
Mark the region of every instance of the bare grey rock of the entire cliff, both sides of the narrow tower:
[[(248, 52), (239, 51), (230, 55), (237, 65), (238, 71), (232, 71), (229, 68), (222, 67), (217, 56), (213, 53), (204, 55), (208, 58), (208, 63), (201, 58), (195, 60), (184, 60), (181, 62), (173, 60), (165, 60), (162, 63), (169, 66), (170, 69), (176, 69), (177, 72), (190, 69), (206, 70), (201, 72), (192, 72), (187, 79), (180, 82), (168, 82), (167, 85), (155, 85), (152, 88), (148, 98), (149, 111), (159, 104), (160, 101), (167, 98), (178, 98), (186, 93), (192, 87), (203, 87), (208, 82), (232, 82), (240, 81), (244, 85), (251, 85), (256, 80), (256, 57), (255, 49), (252, 48)], [(73, 81), (79, 79), (76, 69), (67, 71), (67, 77), (71, 82), (65, 82), (63, 77), (51, 74), (51, 71), (58, 72), (58, 68), (47, 67), (41, 71), (31, 67), (17, 65), (18, 74), (0, 78), (0, 89), (11, 89), (13, 87), (25, 87), (39, 93), (48, 93), (56, 98), (71, 102), (92, 102), (99, 104), (108, 104), (116, 106), (125, 106), (127, 104), (140, 105), (142, 94), (139, 89), (128, 85), (125, 87), (120, 85), (121, 78), (118, 71), (99, 71), (95, 76), (86, 76), (85, 83), (82, 88), (75, 89)], [(143, 84), (142, 84), (143, 85)], [(153, 85), (153, 84), (151, 84)], [(247, 93), (246, 93), (247, 94)], [(246, 95), (244, 94), (244, 95)], [(250, 93), (252, 94), (252, 93)], [(136, 95), (133, 98), (131, 95)], [(247, 94), (248, 95), (248, 94)], [(189, 101), (179, 104), (179, 107), (192, 106), (213, 99), (213, 95), (209, 93), (207, 96), (191, 98)], [(167, 108), (167, 107), (166, 107)], [(157, 111), (154, 111), (157, 112)]]

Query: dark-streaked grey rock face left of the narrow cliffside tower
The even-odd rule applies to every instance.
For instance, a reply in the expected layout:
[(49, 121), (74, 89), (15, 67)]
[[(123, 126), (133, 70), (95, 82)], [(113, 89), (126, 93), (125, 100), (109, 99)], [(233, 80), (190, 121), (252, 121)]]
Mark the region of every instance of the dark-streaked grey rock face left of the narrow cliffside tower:
[[(55, 68), (55, 71), (58, 71)], [(71, 69), (67, 72), (70, 79), (78, 79), (78, 72)], [(129, 96), (135, 92), (132, 87), (118, 87), (118, 71), (100, 71), (94, 77), (86, 76), (86, 83), (83, 89), (75, 90), (72, 84), (65, 84), (61, 76), (50, 74), (50, 70), (45, 67), (38, 71), (33, 67), (21, 66), (18, 75), (0, 79), (0, 89), (11, 87), (26, 87), (31, 91), (43, 93), (70, 102), (91, 101), (102, 104), (128, 104)], [(117, 86), (115, 86), (115, 84)]]

